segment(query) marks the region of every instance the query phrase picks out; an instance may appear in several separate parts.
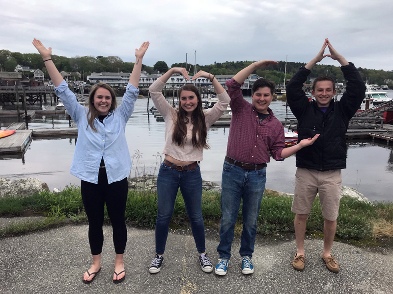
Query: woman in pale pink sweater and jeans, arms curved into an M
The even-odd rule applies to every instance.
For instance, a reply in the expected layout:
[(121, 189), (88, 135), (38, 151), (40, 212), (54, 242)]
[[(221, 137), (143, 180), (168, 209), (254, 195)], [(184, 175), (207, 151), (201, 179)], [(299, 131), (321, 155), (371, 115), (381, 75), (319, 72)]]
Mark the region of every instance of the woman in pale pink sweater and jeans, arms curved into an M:
[(179, 110), (170, 106), (162, 95), (165, 83), (174, 73), (182, 74), (190, 80), (185, 68), (171, 68), (150, 87), (149, 92), (165, 121), (165, 160), (160, 166), (157, 178), (158, 212), (156, 221), (156, 255), (149, 272), (161, 270), (163, 254), (168, 238), (169, 221), (173, 214), (177, 191), (180, 187), (186, 206), (199, 263), (205, 272), (213, 271), (213, 265), (205, 252), (205, 226), (202, 219), (202, 177), (198, 161), (202, 160), (203, 149), (208, 149), (207, 129), (216, 122), (226, 110), (230, 98), (224, 88), (211, 73), (198, 72), (198, 77), (209, 79), (218, 95), (218, 102), (203, 112), (198, 89), (185, 85), (179, 90)]

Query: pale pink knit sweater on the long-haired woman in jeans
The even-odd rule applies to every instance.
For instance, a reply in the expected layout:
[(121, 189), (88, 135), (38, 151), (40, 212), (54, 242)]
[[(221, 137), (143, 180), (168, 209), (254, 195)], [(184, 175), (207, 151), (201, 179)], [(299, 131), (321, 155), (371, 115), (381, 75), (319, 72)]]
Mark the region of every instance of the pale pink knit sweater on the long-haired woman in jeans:
[[(177, 146), (172, 143), (173, 134), (173, 123), (177, 120), (177, 110), (169, 105), (162, 89), (165, 83), (160, 79), (157, 79), (150, 87), (149, 92), (151, 98), (156, 106), (157, 110), (163, 116), (165, 121), (165, 146), (163, 153), (180, 161), (201, 161), (203, 159), (203, 148), (195, 148), (192, 143), (192, 130), (193, 124), (190, 122), (187, 124), (187, 135), (186, 143), (183, 147)], [(218, 102), (214, 104), (213, 108), (205, 112), (206, 126), (209, 128), (214, 122), (216, 122), (226, 110), (230, 98), (226, 91), (222, 94), (218, 94)]]

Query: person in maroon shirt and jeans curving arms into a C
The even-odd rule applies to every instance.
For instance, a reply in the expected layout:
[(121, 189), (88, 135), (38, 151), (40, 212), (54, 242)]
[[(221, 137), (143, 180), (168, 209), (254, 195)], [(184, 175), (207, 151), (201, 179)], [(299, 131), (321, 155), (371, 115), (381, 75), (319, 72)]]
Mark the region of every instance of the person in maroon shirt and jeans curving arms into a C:
[(237, 73), (226, 82), (232, 109), (228, 145), (224, 161), (221, 192), (220, 255), (215, 273), (225, 275), (230, 259), (235, 223), (243, 199), (243, 231), (240, 245), (242, 273), (253, 273), (251, 261), (256, 235), (256, 219), (266, 183), (266, 163), (270, 162), (269, 151), (275, 160), (281, 161), (303, 147), (315, 142), (304, 139), (299, 144), (285, 148), (284, 129), (269, 108), (276, 85), (260, 78), (253, 84), (253, 103), (243, 98), (241, 86), (256, 69), (262, 69), (273, 60), (260, 60)]

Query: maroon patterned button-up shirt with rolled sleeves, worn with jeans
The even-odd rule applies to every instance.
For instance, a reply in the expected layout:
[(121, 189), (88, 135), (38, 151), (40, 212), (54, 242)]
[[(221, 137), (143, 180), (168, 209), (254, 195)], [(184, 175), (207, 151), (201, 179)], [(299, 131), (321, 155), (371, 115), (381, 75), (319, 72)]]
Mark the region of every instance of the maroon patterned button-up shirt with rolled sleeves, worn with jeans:
[(233, 78), (225, 85), (232, 109), (226, 155), (240, 162), (261, 164), (270, 162), (270, 151), (275, 160), (281, 161), (281, 151), (285, 148), (282, 123), (270, 108), (270, 115), (259, 123), (255, 107), (243, 98), (242, 85)]

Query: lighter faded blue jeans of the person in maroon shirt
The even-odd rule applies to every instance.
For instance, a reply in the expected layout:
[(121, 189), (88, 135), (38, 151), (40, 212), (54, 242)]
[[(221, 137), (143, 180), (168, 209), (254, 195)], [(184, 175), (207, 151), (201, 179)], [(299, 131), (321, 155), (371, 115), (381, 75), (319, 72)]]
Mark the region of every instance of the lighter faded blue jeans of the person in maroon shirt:
[(217, 251), (222, 259), (230, 259), (235, 223), (243, 198), (243, 231), (240, 255), (253, 257), (256, 219), (266, 184), (266, 167), (261, 170), (244, 170), (224, 161), (221, 192), (220, 244)]

